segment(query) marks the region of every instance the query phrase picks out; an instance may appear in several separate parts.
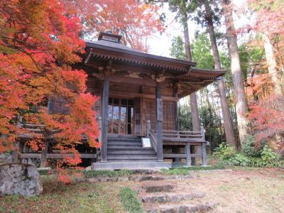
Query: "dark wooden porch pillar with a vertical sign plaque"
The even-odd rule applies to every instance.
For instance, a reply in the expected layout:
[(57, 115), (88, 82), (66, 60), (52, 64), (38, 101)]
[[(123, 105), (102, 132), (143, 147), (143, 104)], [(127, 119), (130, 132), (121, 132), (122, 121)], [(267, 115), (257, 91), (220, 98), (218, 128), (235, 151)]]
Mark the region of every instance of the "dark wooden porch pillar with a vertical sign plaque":
[(155, 87), (155, 99), (157, 102), (157, 155), (158, 161), (163, 161), (163, 101), (160, 82), (157, 82)]

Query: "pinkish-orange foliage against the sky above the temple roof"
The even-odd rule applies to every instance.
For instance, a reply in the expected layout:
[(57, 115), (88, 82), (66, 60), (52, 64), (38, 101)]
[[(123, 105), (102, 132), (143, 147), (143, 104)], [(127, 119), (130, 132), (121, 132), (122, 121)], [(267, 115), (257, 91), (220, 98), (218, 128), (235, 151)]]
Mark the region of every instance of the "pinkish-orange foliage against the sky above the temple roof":
[(65, 1), (70, 13), (80, 10), (84, 21), (84, 33), (113, 31), (123, 36), (132, 48), (147, 52), (146, 40), (164, 26), (158, 14), (158, 6), (133, 0), (77, 0)]

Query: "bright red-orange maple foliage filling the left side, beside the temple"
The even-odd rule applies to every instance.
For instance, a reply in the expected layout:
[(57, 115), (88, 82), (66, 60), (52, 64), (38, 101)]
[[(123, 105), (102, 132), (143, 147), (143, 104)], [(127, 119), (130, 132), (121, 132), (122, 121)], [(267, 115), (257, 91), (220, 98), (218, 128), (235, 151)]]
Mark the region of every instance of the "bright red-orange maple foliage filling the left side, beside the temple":
[[(92, 110), (97, 97), (86, 92), (87, 75), (73, 70), (84, 53), (80, 18), (67, 13), (58, 0), (4, 0), (0, 4), (0, 153), (10, 151), (18, 133), (17, 119), (44, 124), (43, 136), (29, 141), (36, 150), (40, 140), (54, 132), (60, 152), (67, 155), (58, 166), (81, 162), (75, 145), (87, 138), (99, 147)], [(47, 99), (62, 98), (70, 114), (48, 114), (40, 108)], [(62, 176), (67, 182), (69, 178)]]

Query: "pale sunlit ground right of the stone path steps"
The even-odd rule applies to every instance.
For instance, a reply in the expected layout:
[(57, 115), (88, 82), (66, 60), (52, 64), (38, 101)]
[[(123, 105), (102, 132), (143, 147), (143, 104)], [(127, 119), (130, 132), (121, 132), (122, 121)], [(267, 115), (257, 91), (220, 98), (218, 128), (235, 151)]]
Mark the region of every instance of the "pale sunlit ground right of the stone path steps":
[(160, 182), (172, 183), (174, 192), (205, 192), (204, 198), (187, 202), (215, 203), (212, 212), (284, 212), (284, 170), (238, 168), (190, 173), (192, 179)]

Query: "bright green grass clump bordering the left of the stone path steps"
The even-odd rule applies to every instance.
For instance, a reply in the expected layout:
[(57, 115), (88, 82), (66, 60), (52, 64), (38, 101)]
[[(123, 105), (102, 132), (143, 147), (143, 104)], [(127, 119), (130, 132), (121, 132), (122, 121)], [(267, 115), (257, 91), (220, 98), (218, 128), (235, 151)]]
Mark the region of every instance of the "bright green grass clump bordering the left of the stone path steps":
[(124, 205), (126, 212), (143, 212), (141, 201), (138, 200), (136, 192), (129, 187), (124, 187), (119, 192), (121, 203)]

